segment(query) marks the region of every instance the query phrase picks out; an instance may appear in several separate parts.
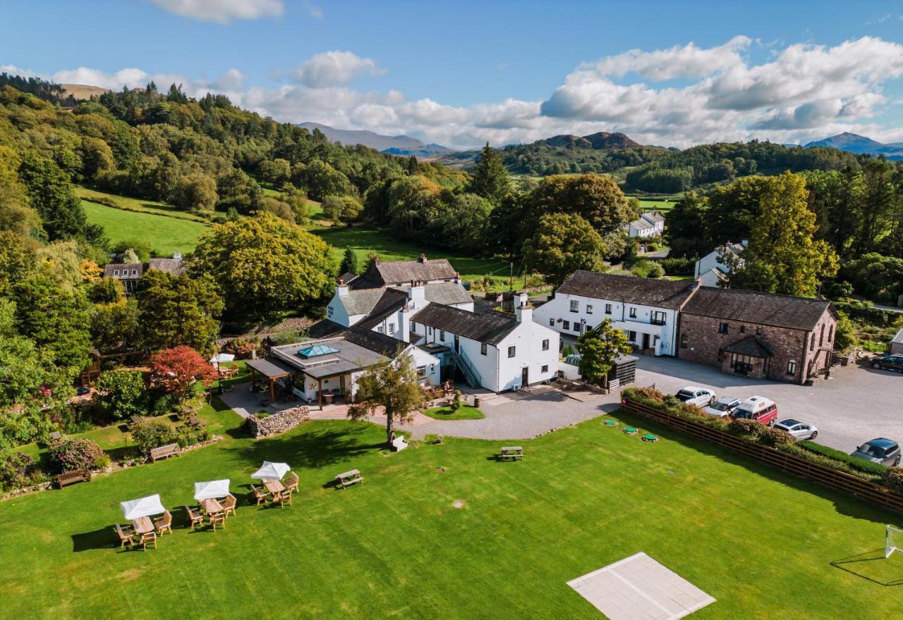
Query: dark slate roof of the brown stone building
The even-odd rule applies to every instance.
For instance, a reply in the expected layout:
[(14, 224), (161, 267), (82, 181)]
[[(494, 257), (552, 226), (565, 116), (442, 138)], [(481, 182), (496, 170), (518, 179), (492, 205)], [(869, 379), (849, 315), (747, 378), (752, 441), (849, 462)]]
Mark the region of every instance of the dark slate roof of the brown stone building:
[(824, 299), (700, 287), (684, 305), (684, 314), (810, 332), (830, 307)]

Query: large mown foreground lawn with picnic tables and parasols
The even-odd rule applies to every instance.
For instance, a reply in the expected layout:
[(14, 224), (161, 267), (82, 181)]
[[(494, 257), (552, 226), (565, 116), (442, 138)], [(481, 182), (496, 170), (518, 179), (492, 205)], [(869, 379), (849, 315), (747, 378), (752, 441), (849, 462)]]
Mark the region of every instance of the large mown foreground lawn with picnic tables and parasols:
[[(623, 412), (662, 441), (592, 420), (504, 463), (505, 442), (391, 453), (383, 429), (344, 421), (254, 442), (230, 411), (202, 415), (221, 442), (0, 503), (0, 615), (596, 620), (565, 582), (640, 551), (717, 599), (700, 620), (899, 613), (900, 588), (876, 581), (903, 579), (903, 557), (832, 565), (876, 557), (888, 514)], [(248, 505), (265, 459), (300, 474), (293, 506)], [(365, 484), (331, 488), (352, 468)], [(220, 478), (239, 497), (225, 530), (191, 532), (177, 509), (158, 550), (114, 548), (118, 502), (160, 493), (176, 509)]]

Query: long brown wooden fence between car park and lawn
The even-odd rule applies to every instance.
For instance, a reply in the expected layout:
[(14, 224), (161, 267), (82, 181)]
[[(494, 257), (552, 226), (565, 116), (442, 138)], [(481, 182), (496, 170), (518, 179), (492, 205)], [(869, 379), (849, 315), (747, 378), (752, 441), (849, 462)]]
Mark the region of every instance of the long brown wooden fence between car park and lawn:
[(669, 428), (704, 439), (707, 442), (717, 443), (752, 459), (768, 463), (772, 467), (777, 467), (778, 470), (813, 480), (824, 487), (843, 491), (855, 497), (861, 497), (871, 504), (903, 514), (903, 497), (869, 480), (863, 480), (845, 471), (833, 470), (825, 465), (798, 457), (796, 454), (788, 454), (775, 448), (749, 442), (740, 437), (734, 437), (705, 424), (687, 420), (651, 406), (635, 403), (626, 397), (621, 397), (621, 406), (654, 422), (665, 424)]

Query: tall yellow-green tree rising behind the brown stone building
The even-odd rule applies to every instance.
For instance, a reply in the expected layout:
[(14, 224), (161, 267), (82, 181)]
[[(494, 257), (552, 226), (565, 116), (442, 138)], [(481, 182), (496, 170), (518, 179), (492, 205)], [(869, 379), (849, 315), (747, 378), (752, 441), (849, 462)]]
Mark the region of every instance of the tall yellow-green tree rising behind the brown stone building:
[(812, 297), (823, 278), (837, 273), (837, 254), (827, 242), (813, 238), (815, 214), (807, 198), (799, 175), (762, 179), (759, 215), (743, 252), (747, 267), (731, 273), (731, 287)]

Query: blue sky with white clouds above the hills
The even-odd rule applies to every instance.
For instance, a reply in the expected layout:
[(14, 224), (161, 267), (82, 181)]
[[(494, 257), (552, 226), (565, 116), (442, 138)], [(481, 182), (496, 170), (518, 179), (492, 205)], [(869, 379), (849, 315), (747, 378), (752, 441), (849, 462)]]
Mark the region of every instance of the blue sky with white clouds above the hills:
[(456, 149), (903, 142), (899, 2), (5, 0), (2, 70)]

